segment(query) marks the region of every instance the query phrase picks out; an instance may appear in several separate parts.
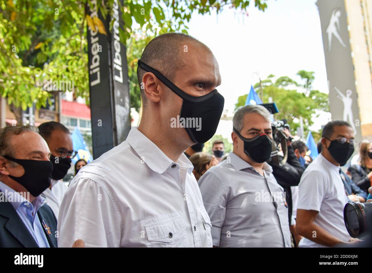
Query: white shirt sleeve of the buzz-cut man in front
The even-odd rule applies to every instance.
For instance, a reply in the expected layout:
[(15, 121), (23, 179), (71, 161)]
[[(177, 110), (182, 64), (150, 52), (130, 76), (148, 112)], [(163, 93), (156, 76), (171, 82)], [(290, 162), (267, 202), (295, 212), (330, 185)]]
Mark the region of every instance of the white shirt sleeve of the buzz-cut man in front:
[(82, 239), (86, 247), (119, 247), (121, 219), (110, 194), (97, 182), (80, 178), (67, 189), (58, 217), (58, 247)]

